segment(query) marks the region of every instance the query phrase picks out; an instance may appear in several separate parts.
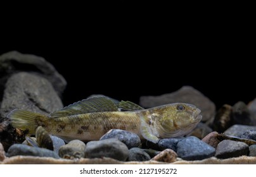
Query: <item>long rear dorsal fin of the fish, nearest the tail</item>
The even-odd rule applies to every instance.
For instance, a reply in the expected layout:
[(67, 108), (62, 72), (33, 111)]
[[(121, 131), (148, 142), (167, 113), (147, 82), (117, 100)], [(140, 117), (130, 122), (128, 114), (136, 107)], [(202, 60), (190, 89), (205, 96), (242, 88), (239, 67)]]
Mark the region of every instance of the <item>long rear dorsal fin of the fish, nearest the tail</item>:
[(118, 111), (115, 104), (108, 97), (91, 97), (84, 99), (69, 106), (64, 107), (60, 111), (55, 111), (50, 114), (51, 118), (60, 118), (64, 116), (72, 116), (75, 114), (96, 113), (105, 111)]

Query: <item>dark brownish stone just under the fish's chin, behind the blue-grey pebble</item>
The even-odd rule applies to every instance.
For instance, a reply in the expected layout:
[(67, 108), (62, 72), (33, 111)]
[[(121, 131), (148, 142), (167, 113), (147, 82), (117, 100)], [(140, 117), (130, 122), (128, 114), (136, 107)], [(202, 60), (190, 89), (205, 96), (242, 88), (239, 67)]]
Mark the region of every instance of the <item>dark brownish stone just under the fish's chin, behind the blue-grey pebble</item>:
[(210, 132), (212, 132), (212, 128), (205, 125), (205, 123), (200, 122), (200, 123), (198, 123), (198, 125), (196, 125), (196, 127), (193, 131), (191, 131), (190, 133), (188, 133), (188, 135), (186, 135), (186, 137), (193, 136), (193, 137), (197, 137), (201, 140), (206, 135), (208, 135)]

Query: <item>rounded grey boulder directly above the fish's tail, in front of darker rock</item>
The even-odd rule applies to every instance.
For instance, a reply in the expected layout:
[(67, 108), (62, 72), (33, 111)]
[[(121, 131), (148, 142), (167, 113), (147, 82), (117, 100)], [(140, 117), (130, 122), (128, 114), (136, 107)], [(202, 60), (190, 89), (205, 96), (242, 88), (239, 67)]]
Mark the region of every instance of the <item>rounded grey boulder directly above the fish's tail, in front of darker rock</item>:
[(60, 97), (46, 78), (25, 72), (16, 73), (8, 79), (1, 104), (2, 116), (13, 109), (49, 114), (61, 107)]

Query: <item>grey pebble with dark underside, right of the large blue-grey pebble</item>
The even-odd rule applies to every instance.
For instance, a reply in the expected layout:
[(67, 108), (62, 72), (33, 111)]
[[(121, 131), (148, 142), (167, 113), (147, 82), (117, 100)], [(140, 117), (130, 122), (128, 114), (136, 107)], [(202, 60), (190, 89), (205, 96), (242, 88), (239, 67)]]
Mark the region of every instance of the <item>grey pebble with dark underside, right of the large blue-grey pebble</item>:
[(249, 146), (244, 142), (223, 140), (217, 145), (215, 157), (219, 159), (227, 159), (231, 157), (246, 156), (248, 152)]

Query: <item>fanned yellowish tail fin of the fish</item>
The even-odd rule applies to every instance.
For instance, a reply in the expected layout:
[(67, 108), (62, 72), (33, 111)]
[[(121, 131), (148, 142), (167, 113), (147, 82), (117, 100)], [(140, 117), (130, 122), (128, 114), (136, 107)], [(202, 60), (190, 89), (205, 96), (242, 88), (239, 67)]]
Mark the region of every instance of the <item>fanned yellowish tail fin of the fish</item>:
[(15, 128), (29, 130), (29, 135), (33, 135), (37, 126), (42, 125), (42, 119), (47, 117), (39, 113), (15, 109), (8, 114), (8, 118)]

